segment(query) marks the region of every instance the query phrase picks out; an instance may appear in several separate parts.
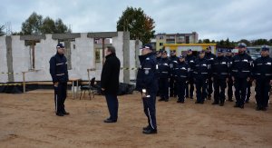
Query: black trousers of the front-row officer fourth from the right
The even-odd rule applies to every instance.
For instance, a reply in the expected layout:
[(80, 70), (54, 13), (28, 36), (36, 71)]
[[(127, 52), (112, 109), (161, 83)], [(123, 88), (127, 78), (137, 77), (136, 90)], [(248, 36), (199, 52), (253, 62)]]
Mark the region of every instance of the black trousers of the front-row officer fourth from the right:
[(204, 103), (207, 97), (207, 80), (206, 79), (196, 79), (197, 88), (197, 102)]

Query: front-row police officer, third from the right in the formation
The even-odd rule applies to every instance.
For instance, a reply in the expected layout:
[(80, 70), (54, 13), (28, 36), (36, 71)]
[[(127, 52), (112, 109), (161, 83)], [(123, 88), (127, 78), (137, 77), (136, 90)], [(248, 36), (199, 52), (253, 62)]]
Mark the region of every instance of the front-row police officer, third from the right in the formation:
[(228, 78), (228, 58), (223, 55), (222, 49), (218, 49), (218, 57), (215, 58), (211, 65), (214, 86), (214, 102), (212, 104), (225, 103), (225, 89), (227, 87)]

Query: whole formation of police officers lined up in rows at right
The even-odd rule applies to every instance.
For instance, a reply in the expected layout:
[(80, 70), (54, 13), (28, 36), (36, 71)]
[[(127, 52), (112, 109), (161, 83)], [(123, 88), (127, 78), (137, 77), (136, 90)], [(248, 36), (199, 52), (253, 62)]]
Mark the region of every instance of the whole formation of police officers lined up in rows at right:
[(232, 86), (235, 87), (236, 104), (234, 107), (244, 108), (250, 97), (250, 86), (256, 80), (257, 110), (267, 110), (270, 84), (272, 84), (272, 59), (269, 57), (267, 45), (261, 47), (261, 57), (255, 61), (247, 54), (247, 44), (238, 44), (238, 54), (231, 50), (226, 55), (219, 49), (218, 56), (211, 54), (211, 47), (199, 52), (198, 57), (187, 51), (187, 56), (176, 56), (175, 51), (157, 51), (159, 66), (159, 101), (169, 101), (178, 95), (178, 103), (185, 98), (193, 99), (196, 85), (196, 104), (204, 104), (214, 91), (214, 102), (223, 106), (226, 100), (225, 89), (228, 86), (228, 101), (233, 102)]

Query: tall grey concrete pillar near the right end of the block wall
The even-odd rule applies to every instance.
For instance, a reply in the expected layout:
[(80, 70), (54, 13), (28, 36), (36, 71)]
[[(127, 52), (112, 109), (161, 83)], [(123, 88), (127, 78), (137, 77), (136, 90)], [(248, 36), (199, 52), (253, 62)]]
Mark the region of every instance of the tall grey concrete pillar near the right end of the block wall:
[(123, 52), (123, 67), (127, 68), (123, 70), (123, 82), (125, 84), (131, 83), (131, 66), (130, 66), (130, 32), (123, 32), (122, 40), (122, 52)]

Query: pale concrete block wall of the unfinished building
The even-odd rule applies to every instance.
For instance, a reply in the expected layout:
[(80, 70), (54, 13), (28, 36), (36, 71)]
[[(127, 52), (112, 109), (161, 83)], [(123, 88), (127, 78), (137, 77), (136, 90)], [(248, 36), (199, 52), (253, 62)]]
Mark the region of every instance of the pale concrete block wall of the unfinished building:
[[(31, 68), (30, 64), (30, 46), (24, 45), (24, 40), (20, 40), (20, 35), (13, 35), (12, 37), (12, 57), (13, 57), (13, 72), (22, 73), (27, 72)], [(49, 73), (49, 60), (56, 53), (55, 45), (58, 43), (57, 40), (52, 38), (52, 35), (45, 35), (45, 39), (41, 39), (40, 43), (36, 43), (34, 46), (35, 56), (35, 70), (25, 74), (26, 82), (32, 81), (51, 81), (51, 75)], [(95, 51), (93, 38), (87, 37), (87, 33), (82, 33), (81, 37), (75, 38), (71, 43), (71, 64), (70, 78), (81, 78), (88, 80), (87, 69), (96, 68), (96, 71), (92, 71), (90, 77), (95, 77), (96, 80), (100, 80), (102, 72), (102, 64), (99, 66), (95, 63)], [(73, 48), (73, 45), (75, 48)], [(116, 48), (117, 56), (121, 61), (121, 67), (123, 67), (124, 57), (123, 56), (123, 33), (118, 32), (118, 36), (112, 37), (112, 45)], [(135, 65), (135, 41), (129, 42), (130, 50), (130, 67), (134, 68)], [(128, 50), (128, 49), (126, 49)], [(136, 49), (137, 51), (138, 49)], [(0, 73), (8, 72), (7, 59), (6, 59), (6, 44), (5, 36), (0, 36)], [(102, 54), (101, 54), (102, 55)], [(136, 57), (138, 58), (138, 57)], [(131, 75), (131, 76), (130, 76)], [(130, 74), (127, 75), (130, 79), (135, 79), (135, 70), (131, 70)], [(14, 82), (22, 82), (23, 75), (15, 74)], [(120, 81), (123, 82), (124, 73), (123, 70), (120, 72)], [(0, 83), (9, 82), (7, 74), (0, 74)]]

